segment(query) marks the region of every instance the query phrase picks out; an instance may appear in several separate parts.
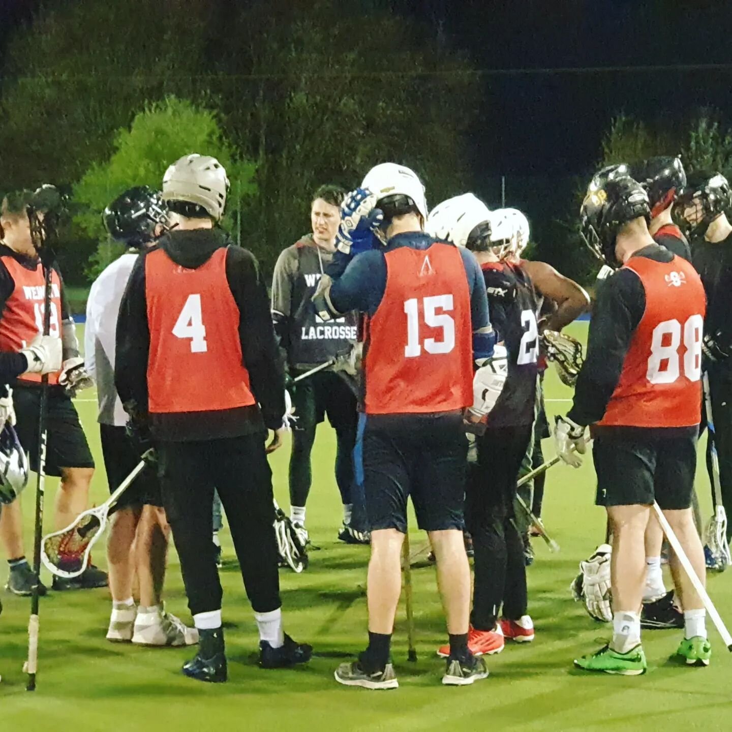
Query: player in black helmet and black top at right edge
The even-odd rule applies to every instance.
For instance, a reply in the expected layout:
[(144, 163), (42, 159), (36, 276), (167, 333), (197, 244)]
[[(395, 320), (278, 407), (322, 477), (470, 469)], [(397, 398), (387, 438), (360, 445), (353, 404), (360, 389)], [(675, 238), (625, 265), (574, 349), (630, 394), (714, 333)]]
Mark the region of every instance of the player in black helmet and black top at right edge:
[[(692, 261), (706, 292), (704, 370), (714, 422), (714, 440), (707, 441), (706, 467), (712, 485), (719, 481), (727, 516), (732, 512), (732, 359), (729, 357), (732, 354), (732, 224), (725, 214), (730, 206), (732, 193), (727, 179), (720, 173), (699, 171), (689, 176), (673, 209), (679, 225), (690, 236)], [(702, 422), (706, 424), (706, 414)], [(712, 466), (713, 444), (719, 460), (717, 478)], [(716, 505), (717, 498), (714, 501)], [(725, 568), (728, 556), (722, 544), (730, 539), (729, 523), (726, 536), (708, 537), (707, 567)]]

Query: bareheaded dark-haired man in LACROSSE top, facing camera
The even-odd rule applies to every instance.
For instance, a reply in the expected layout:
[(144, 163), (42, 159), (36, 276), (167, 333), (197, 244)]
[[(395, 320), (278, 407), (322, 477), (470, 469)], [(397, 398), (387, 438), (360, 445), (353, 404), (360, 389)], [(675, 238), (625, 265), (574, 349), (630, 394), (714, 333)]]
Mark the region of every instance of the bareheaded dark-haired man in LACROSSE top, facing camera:
[[(310, 304), (318, 280), (335, 253), (343, 194), (343, 189), (335, 185), (322, 185), (315, 191), (310, 206), (313, 233), (285, 249), (275, 266), (272, 319), (292, 377), (348, 354), (356, 340), (355, 313), (326, 324)], [(343, 528), (338, 538), (347, 543), (367, 542), (351, 529), (357, 422), (354, 389), (339, 373), (326, 369), (300, 381), (292, 389), (292, 400), (296, 422), (290, 456), (290, 519), (294, 528), (307, 542), (305, 503), (312, 482), (310, 452), (315, 429), (327, 414), (336, 433), (335, 479), (343, 501)]]

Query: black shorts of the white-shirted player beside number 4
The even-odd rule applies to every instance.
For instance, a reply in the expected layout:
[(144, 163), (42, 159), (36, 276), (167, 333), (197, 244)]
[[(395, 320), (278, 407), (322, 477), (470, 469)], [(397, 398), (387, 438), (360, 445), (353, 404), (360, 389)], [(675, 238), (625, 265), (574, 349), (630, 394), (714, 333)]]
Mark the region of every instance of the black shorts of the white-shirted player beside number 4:
[[(107, 471), (109, 492), (113, 493), (138, 465), (140, 455), (132, 447), (132, 442), (127, 437), (124, 427), (99, 425), (99, 432), (102, 439), (102, 455)], [(119, 509), (144, 505), (163, 505), (163, 498), (160, 495), (160, 479), (157, 477), (155, 466), (145, 466), (130, 488), (122, 493), (116, 507)]]

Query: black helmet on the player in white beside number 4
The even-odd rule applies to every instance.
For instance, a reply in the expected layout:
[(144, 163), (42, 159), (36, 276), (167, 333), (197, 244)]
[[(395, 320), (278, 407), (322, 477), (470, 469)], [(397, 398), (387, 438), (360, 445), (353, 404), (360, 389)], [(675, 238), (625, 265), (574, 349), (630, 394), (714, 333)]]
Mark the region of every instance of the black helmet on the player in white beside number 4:
[(104, 225), (112, 239), (137, 249), (153, 242), (155, 227), (167, 231), (168, 206), (156, 190), (142, 185), (126, 190), (104, 209)]

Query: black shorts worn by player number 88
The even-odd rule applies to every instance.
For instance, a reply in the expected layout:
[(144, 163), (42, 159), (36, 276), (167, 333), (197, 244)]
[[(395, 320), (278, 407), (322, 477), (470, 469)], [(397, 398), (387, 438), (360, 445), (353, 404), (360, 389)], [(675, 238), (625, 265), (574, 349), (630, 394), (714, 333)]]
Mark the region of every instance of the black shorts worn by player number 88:
[(650, 505), (665, 510), (691, 506), (696, 436), (602, 434), (592, 447), (598, 506)]

